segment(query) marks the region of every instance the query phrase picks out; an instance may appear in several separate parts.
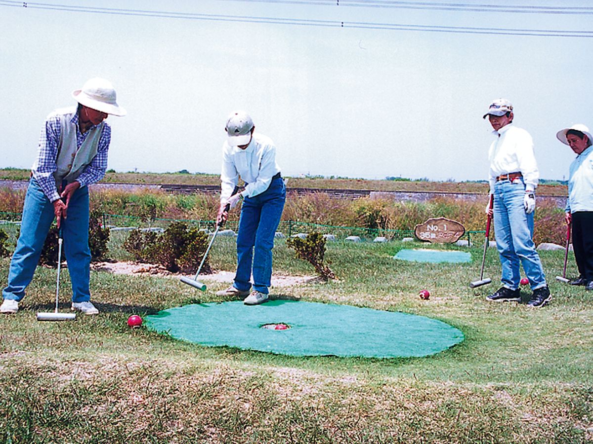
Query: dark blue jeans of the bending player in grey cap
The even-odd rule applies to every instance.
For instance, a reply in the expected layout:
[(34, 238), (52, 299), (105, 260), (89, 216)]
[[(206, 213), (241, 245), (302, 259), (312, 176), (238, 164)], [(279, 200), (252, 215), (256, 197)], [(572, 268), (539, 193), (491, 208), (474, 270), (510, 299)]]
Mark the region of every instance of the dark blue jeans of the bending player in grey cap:
[(237, 274), (234, 287), (241, 291), (251, 288), (267, 294), (272, 279), (272, 248), (274, 236), (286, 201), (282, 178), (273, 179), (262, 194), (246, 197), (241, 205), (237, 236)]

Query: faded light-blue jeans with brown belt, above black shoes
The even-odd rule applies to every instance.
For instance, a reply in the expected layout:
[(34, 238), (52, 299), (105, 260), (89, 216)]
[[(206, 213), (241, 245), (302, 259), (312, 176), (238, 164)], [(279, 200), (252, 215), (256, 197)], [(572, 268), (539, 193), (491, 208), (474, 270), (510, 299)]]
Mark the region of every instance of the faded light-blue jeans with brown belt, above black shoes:
[(519, 288), (523, 265), (531, 289), (546, 287), (546, 276), (533, 243), (533, 213), (525, 213), (522, 179), (496, 182), (494, 187), (494, 233), (502, 265), (503, 287)]

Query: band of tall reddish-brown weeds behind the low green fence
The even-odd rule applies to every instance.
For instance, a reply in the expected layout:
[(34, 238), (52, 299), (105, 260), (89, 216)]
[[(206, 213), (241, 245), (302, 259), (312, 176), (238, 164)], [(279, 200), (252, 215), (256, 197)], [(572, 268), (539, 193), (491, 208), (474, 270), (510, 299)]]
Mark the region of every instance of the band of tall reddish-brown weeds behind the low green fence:
[[(428, 197), (427, 197), (428, 198)], [(24, 192), (0, 188), (0, 211), (8, 221), (20, 220)], [(162, 190), (96, 189), (91, 194), (91, 211), (104, 214), (103, 225), (125, 230), (127, 227), (165, 229), (173, 221), (183, 221), (199, 229), (215, 229), (214, 222), (220, 201), (215, 194), (171, 194)], [(475, 234), (486, 228), (487, 195), (474, 198), (432, 197), (422, 202), (407, 199), (394, 200), (393, 196), (356, 197), (352, 200), (333, 198), (326, 192), (291, 195), (286, 200), (279, 231), (284, 236), (312, 231), (332, 234), (337, 239), (358, 236), (364, 240), (375, 237), (401, 239), (413, 237), (417, 224), (429, 218), (444, 217), (466, 227), (471, 243), (482, 243)], [(227, 227), (237, 231), (239, 211), (229, 214)], [(148, 221), (148, 222), (146, 222)], [(535, 244), (566, 242), (563, 206), (557, 198), (538, 197), (534, 214)], [(493, 231), (490, 232), (494, 238)]]

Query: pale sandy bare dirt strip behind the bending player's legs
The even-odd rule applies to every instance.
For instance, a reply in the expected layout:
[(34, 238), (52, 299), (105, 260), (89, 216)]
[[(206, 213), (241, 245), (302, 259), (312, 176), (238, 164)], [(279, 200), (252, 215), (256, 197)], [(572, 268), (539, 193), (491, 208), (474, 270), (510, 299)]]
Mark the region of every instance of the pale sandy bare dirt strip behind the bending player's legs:
[[(171, 273), (154, 263), (141, 262), (94, 262), (91, 269), (107, 271), (115, 275), (157, 275), (157, 276), (188, 276), (194, 278), (196, 275)], [(234, 271), (218, 271), (209, 275), (200, 275), (200, 281), (232, 282), (235, 277)], [(291, 285), (304, 284), (317, 281), (317, 276), (291, 276), (272, 275), (272, 287), (290, 287)]]

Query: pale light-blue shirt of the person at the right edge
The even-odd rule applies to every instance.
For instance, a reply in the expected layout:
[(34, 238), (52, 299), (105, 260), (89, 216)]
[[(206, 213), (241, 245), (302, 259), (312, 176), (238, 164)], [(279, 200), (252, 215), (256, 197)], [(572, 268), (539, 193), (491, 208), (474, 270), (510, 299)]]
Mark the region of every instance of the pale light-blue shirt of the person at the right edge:
[(570, 164), (566, 213), (593, 211), (593, 146)]

